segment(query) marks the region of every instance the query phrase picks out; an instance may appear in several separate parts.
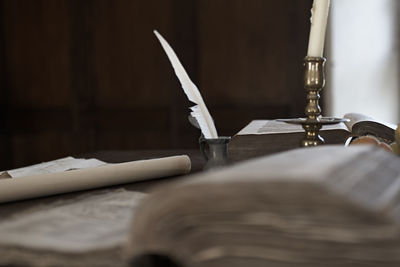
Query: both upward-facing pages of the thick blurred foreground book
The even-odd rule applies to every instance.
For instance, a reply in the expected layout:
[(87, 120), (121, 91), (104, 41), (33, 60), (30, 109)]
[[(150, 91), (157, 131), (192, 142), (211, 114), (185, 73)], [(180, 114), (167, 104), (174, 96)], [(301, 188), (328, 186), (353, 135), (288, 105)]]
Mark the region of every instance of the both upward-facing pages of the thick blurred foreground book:
[(193, 176), (182, 184), (314, 182), (400, 222), (400, 158), (374, 146), (301, 148)]

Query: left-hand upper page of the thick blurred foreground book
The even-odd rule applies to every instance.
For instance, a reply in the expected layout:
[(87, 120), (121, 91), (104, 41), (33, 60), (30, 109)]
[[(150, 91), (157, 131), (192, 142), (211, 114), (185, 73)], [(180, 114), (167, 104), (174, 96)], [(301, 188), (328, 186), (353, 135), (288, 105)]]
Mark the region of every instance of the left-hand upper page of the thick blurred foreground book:
[(266, 180), (322, 181), (328, 174), (374, 147), (324, 145), (298, 148), (244, 161), (228, 168), (192, 176), (182, 183), (224, 183)]

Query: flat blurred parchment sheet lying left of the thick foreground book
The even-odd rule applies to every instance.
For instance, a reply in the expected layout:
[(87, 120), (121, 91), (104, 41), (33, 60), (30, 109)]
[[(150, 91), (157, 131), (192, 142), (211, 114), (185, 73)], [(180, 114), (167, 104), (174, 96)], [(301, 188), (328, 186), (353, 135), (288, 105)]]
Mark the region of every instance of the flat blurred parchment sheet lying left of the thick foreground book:
[(135, 208), (145, 196), (104, 190), (0, 218), (0, 246), (72, 253), (122, 246)]

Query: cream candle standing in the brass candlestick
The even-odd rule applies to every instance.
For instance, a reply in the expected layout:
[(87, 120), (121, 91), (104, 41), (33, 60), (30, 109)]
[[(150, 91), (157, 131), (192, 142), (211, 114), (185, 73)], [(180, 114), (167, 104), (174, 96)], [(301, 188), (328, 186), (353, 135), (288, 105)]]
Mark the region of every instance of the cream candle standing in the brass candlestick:
[(311, 9), (311, 30), (308, 42), (309, 57), (322, 57), (330, 0), (314, 0)]

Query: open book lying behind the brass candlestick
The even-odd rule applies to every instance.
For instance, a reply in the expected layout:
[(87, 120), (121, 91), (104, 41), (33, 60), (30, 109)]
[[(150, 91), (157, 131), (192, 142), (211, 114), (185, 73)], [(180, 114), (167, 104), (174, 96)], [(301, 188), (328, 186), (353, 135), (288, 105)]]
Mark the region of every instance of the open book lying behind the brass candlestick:
[[(373, 135), (386, 143), (394, 141), (395, 125), (358, 113), (344, 116), (349, 122), (324, 126), (320, 134), (326, 144), (345, 144), (351, 136)], [(254, 120), (232, 137), (228, 152), (231, 161), (281, 152), (300, 145), (304, 138), (301, 125), (277, 120)]]

